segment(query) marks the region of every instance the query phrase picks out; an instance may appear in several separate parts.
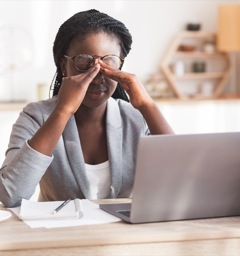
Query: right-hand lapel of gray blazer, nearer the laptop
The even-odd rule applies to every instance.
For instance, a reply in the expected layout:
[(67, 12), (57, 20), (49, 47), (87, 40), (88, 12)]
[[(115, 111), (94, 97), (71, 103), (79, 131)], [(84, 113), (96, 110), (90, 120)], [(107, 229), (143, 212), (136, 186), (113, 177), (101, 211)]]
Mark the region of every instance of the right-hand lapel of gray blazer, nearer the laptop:
[(122, 122), (119, 106), (113, 98), (107, 101), (106, 131), (108, 160), (111, 172), (110, 198), (116, 198), (122, 188)]

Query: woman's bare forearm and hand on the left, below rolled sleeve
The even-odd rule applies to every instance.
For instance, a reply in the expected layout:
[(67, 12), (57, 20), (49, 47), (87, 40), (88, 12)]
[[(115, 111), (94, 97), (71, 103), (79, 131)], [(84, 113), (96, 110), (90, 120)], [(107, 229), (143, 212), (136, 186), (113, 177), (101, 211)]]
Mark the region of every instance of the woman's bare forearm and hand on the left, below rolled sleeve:
[(82, 103), (88, 85), (98, 74), (100, 65), (96, 62), (88, 71), (63, 78), (57, 105), (50, 116), (28, 141), (34, 150), (51, 156), (69, 120)]

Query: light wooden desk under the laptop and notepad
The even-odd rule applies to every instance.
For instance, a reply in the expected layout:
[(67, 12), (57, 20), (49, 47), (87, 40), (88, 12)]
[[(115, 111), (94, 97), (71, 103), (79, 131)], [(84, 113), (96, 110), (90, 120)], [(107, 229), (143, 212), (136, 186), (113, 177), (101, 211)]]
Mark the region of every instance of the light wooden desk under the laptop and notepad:
[(0, 255), (240, 255), (240, 216), (31, 229), (12, 214), (0, 222)]

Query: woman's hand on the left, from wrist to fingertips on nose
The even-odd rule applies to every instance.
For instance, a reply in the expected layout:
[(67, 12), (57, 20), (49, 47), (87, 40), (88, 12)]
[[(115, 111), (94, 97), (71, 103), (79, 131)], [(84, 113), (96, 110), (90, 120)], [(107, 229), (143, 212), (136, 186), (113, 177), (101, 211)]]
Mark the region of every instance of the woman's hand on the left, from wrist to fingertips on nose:
[(100, 70), (100, 64), (96, 63), (88, 71), (76, 76), (68, 76), (62, 79), (58, 92), (56, 108), (73, 115), (82, 103), (89, 84)]

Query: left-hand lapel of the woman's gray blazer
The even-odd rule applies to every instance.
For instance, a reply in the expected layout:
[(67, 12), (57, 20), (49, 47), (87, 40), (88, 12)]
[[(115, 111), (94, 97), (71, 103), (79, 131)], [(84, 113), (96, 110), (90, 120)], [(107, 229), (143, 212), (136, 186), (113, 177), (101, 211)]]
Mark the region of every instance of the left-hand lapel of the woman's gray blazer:
[(62, 136), (69, 163), (77, 183), (84, 197), (91, 199), (90, 182), (86, 175), (86, 168), (74, 115), (70, 117)]

